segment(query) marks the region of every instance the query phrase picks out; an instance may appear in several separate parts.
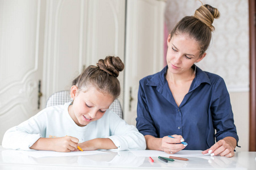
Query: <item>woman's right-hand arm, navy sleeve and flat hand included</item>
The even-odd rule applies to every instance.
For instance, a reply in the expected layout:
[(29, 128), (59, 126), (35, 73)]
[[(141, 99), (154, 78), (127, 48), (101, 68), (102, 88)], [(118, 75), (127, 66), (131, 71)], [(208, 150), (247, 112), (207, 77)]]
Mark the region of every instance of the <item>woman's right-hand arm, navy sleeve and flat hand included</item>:
[(208, 150), (203, 151), (203, 154), (208, 152), (211, 155), (221, 155), (226, 157), (234, 156), (234, 148), (237, 146), (238, 135), (230, 97), (223, 79), (219, 79), (214, 84), (213, 102), (210, 106), (213, 118), (213, 126), (216, 131), (216, 141)]

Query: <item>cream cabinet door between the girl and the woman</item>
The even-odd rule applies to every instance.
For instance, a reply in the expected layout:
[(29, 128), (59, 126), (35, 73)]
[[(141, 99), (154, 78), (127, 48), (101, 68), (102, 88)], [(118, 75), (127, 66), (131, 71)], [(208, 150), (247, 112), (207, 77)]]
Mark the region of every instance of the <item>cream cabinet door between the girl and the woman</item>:
[(139, 80), (163, 69), (163, 1), (127, 1), (124, 119), (135, 125)]

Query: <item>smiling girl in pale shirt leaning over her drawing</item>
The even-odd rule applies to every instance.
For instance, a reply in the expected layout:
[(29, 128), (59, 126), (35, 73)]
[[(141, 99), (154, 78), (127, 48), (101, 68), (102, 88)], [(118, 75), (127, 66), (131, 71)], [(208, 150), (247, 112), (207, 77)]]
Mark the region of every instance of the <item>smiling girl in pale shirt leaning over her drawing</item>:
[(43, 109), (6, 131), (2, 146), (15, 150), (58, 152), (117, 149), (144, 150), (143, 135), (109, 108), (120, 94), (119, 57), (100, 59), (73, 80), (73, 101)]

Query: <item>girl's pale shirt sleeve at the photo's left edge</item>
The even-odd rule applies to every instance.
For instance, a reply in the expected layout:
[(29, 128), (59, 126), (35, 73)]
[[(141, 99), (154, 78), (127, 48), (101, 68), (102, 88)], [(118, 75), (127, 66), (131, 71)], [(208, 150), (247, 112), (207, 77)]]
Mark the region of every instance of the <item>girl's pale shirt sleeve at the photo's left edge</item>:
[(39, 112), (18, 126), (10, 128), (3, 136), (2, 146), (14, 150), (32, 150), (30, 147), (42, 137), (46, 129), (44, 118)]

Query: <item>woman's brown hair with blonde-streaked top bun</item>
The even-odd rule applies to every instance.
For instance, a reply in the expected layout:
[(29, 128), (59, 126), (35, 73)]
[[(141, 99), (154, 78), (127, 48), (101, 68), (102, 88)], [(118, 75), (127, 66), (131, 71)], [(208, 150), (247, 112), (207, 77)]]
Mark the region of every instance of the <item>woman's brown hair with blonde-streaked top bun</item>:
[(209, 47), (212, 39), (212, 25), (214, 18), (218, 18), (220, 12), (210, 5), (200, 6), (193, 16), (185, 16), (171, 31), (171, 37), (177, 34), (187, 34), (199, 42), (200, 55)]

